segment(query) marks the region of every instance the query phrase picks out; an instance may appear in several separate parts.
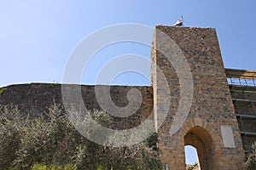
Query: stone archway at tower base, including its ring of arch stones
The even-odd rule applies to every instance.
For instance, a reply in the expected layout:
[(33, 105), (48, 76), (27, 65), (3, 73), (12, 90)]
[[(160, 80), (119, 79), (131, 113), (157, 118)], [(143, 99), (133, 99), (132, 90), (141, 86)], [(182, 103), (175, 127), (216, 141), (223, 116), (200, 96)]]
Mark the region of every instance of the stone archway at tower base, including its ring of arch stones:
[(223, 145), (221, 137), (206, 121), (195, 118), (183, 124), (179, 141), (195, 147), (201, 170), (218, 169), (217, 147)]

